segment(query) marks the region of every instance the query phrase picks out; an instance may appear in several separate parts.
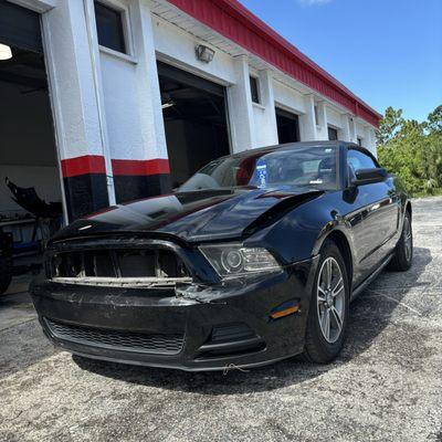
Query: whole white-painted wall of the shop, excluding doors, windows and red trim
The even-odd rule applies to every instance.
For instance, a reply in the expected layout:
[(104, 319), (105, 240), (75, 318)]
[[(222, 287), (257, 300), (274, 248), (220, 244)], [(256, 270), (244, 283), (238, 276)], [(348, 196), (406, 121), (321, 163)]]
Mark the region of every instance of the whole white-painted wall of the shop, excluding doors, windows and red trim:
[[(113, 1), (128, 6), (128, 56), (98, 48), (93, 0), (51, 0), (43, 14), (61, 159), (103, 156), (112, 178), (112, 159), (167, 158), (157, 59), (227, 87), (233, 151), (277, 143), (275, 106), (299, 115), (302, 140), (328, 139), (327, 126), (332, 125), (340, 139), (356, 141), (359, 137), (375, 151), (373, 127), (301, 83), (291, 87), (297, 84), (293, 78), (283, 84), (282, 72), (257, 63), (241, 48), (236, 54), (220, 49), (234, 45), (221, 35), (213, 38), (207, 30), (209, 43), (152, 14), (147, 0)], [(35, 4), (42, 2), (46, 0), (35, 0)], [(198, 44), (214, 49), (211, 63), (197, 60)], [(260, 105), (251, 102), (250, 71), (260, 77)], [(113, 202), (112, 179), (108, 191)]]

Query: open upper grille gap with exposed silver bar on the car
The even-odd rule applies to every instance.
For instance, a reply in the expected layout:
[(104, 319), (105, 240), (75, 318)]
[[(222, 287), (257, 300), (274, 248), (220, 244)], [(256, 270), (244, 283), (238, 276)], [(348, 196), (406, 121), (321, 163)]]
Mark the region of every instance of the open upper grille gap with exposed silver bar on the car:
[(190, 281), (190, 273), (172, 250), (105, 249), (63, 251), (49, 257), (49, 277), (71, 283), (170, 285)]

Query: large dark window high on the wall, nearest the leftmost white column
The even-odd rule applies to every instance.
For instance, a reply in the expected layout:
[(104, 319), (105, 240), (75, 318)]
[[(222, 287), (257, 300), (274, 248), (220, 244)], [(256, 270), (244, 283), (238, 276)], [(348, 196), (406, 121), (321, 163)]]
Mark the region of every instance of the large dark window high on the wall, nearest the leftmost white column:
[(94, 2), (98, 44), (126, 53), (122, 12)]

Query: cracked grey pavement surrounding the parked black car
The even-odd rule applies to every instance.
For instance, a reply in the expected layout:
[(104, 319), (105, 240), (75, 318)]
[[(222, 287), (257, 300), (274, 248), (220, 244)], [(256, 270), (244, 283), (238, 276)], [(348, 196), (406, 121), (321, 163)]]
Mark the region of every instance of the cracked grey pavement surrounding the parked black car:
[[(414, 201), (414, 265), (352, 305), (332, 365), (186, 373), (72, 358), (27, 294), (0, 297), (1, 441), (442, 441), (442, 198)], [(7, 318), (7, 319), (4, 319)]]

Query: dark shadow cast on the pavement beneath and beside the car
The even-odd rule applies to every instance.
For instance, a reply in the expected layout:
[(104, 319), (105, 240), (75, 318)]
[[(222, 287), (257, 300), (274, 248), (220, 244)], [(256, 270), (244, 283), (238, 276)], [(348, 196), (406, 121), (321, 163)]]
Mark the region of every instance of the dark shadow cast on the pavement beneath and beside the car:
[[(269, 391), (312, 380), (364, 352), (389, 324), (391, 315), (410, 288), (419, 286), (420, 275), (431, 262), (429, 249), (414, 248), (413, 266), (408, 272), (383, 272), (350, 306), (348, 337), (340, 356), (327, 366), (291, 358), (251, 370), (186, 372), (180, 370), (127, 366), (73, 356), (77, 366), (125, 382), (166, 388), (198, 394), (241, 394)], [(372, 296), (388, 292), (387, 297)], [(367, 314), (370, 312), (370, 314)]]

